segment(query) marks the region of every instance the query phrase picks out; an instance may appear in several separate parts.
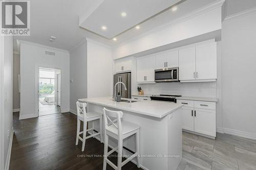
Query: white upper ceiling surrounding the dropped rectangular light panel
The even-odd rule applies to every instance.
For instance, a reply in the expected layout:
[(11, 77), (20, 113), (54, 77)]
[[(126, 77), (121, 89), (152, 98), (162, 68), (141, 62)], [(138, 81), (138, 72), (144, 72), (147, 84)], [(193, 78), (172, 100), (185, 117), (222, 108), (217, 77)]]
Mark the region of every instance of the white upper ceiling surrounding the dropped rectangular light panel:
[[(117, 41), (108, 40), (94, 33), (91, 33), (89, 31), (79, 28), (79, 15), (83, 14), (85, 11), (92, 11), (92, 9), (95, 8), (95, 6), (97, 6), (102, 1), (103, 0), (86, 0), (86, 1), (85, 0), (54, 0), (54, 1), (33, 0), (31, 1), (30, 3), (31, 4), (30, 36), (14, 37), (14, 50), (17, 51), (17, 44), (15, 43), (16, 39), (35, 42), (42, 45), (48, 45), (48, 46), (61, 48), (63, 50), (68, 50), (68, 51), (72, 50), (79, 42), (84, 40), (86, 37), (99, 41), (101, 43), (104, 43), (106, 45), (112, 46), (112, 45), (116, 45), (118, 43), (124, 42), (128, 39), (134, 38), (136, 36), (139, 36), (141, 34), (144, 34), (148, 31), (154, 30), (159, 26), (164, 25), (167, 22), (170, 22), (184, 14), (187, 14), (191, 11), (194, 11), (198, 8), (201, 8), (217, 0), (187, 0), (178, 5), (177, 11), (175, 12), (173, 12), (172, 10), (165, 11), (164, 13), (161, 13), (160, 15), (156, 16), (155, 20), (150, 19), (142, 23), (140, 25), (139, 30), (131, 29), (117, 36)], [(105, 0), (105, 1), (108, 2), (108, 1), (114, 1), (114, 0)], [(147, 0), (147, 1), (158, 2), (156, 0)], [(130, 2), (130, 1), (125, 1), (125, 2)], [(173, 1), (169, 1), (169, 2), (173, 2)], [(167, 3), (166, 8), (168, 7), (168, 5), (169, 4)], [(117, 8), (117, 7), (114, 6), (112, 8)], [(136, 8), (136, 10), (138, 9)], [(134, 13), (134, 12), (136, 11), (126, 12), (127, 13), (126, 17), (128, 17), (130, 13)], [(105, 12), (104, 15), (108, 15), (108, 11)], [(148, 17), (150, 17), (149, 15), (151, 14), (148, 14)], [(120, 14), (118, 15), (118, 17), (119, 16)], [(132, 24), (133, 19), (136, 18), (136, 16), (133, 16), (133, 17), (134, 18), (129, 19), (131, 20), (131, 23), (129, 22), (130, 24)], [(107, 17), (107, 18), (109, 18), (107, 20), (110, 20), (108, 21), (109, 23), (114, 23), (115, 19), (111, 17)], [(93, 27), (96, 27), (96, 26), (93, 26)], [(106, 31), (109, 31), (109, 28)], [(49, 41), (49, 38), (51, 35), (57, 37), (56, 40), (53, 42)]]

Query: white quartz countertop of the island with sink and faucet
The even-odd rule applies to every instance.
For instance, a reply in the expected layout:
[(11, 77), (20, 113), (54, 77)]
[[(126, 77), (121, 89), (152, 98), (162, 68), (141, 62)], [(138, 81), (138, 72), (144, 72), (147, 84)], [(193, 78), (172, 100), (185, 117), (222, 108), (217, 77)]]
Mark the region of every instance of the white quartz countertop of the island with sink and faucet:
[[(131, 100), (131, 99), (127, 99)], [(79, 99), (81, 102), (88, 102), (92, 104), (97, 104), (105, 107), (112, 107), (115, 109), (131, 111), (143, 115), (153, 116), (162, 118), (169, 113), (172, 113), (180, 109), (183, 104), (176, 103), (165, 103), (165, 102), (155, 102), (155, 101), (139, 101), (134, 103), (126, 102), (114, 102), (111, 97), (102, 97), (102, 98), (87, 98)], [(137, 101), (137, 100), (132, 100)]]

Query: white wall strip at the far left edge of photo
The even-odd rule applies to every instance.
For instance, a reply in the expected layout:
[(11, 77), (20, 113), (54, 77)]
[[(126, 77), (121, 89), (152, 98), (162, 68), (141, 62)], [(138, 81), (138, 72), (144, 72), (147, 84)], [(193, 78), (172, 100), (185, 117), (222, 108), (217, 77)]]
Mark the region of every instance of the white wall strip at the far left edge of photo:
[[(12, 134), (12, 37), (1, 36), (1, 51), (0, 51), (0, 74), (1, 74), (1, 156), (0, 169), (8, 166), (8, 150)], [(9, 136), (8, 136), (9, 131)], [(9, 153), (10, 154), (10, 153)]]

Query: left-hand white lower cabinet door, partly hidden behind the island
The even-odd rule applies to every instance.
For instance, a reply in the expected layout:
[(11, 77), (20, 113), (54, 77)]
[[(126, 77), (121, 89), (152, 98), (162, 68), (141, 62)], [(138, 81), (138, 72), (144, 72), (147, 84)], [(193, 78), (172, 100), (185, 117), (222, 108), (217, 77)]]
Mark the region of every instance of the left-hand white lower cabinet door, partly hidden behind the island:
[(182, 129), (194, 131), (194, 109), (182, 107)]

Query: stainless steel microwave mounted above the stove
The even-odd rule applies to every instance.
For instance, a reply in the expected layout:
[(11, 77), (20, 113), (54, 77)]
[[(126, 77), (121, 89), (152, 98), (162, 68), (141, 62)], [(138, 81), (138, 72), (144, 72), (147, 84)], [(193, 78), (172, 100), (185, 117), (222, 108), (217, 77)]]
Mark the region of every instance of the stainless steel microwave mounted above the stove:
[(155, 70), (155, 82), (179, 81), (179, 67)]

